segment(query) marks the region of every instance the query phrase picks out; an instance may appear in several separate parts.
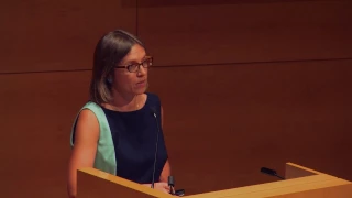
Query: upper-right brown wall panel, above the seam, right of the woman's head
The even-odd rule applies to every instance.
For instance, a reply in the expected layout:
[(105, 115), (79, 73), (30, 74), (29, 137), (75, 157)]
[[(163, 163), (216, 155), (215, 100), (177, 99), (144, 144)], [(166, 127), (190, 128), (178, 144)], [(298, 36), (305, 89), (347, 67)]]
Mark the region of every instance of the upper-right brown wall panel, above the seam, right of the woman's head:
[(138, 32), (155, 65), (352, 57), (351, 1), (226, 2), (140, 0)]

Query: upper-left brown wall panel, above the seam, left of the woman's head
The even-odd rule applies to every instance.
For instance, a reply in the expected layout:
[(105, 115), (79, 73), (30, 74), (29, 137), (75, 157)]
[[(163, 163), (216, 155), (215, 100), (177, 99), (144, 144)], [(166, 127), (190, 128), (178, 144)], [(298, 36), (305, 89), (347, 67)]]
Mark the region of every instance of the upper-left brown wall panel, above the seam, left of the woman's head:
[(1, 3), (0, 73), (91, 68), (94, 47), (105, 32), (120, 28), (135, 33), (133, 2)]

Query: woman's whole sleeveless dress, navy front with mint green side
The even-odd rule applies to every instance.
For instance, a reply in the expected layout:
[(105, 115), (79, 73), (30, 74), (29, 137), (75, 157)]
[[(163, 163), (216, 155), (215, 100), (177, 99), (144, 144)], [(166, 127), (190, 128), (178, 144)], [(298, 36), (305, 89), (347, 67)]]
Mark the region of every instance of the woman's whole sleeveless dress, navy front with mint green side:
[[(145, 94), (145, 105), (135, 111), (113, 111), (91, 101), (81, 108), (90, 109), (99, 122), (100, 134), (94, 167), (140, 184), (152, 183), (157, 133), (155, 183), (160, 182), (168, 158), (162, 129), (160, 98), (151, 92)], [(75, 143), (78, 114), (72, 130), (72, 146)]]

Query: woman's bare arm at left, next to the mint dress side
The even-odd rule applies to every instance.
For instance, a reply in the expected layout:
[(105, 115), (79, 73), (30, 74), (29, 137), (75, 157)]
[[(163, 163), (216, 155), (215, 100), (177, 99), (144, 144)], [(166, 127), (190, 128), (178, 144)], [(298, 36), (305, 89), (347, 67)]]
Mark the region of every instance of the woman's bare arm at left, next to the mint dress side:
[(68, 164), (67, 190), (69, 198), (77, 194), (77, 168), (92, 167), (99, 139), (99, 123), (90, 110), (82, 110), (77, 119), (75, 145)]

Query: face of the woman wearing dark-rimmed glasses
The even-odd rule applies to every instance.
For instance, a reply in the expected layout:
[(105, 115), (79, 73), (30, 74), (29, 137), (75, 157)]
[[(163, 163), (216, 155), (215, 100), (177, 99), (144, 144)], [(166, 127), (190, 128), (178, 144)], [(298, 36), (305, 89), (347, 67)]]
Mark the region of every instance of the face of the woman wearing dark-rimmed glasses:
[(129, 72), (125, 67), (114, 69), (113, 88), (117, 89), (118, 92), (130, 95), (145, 92), (147, 87), (147, 68), (142, 66), (144, 61), (146, 61), (145, 50), (141, 45), (135, 44), (118, 65), (134, 65), (132, 67), (136, 68), (135, 72)]

